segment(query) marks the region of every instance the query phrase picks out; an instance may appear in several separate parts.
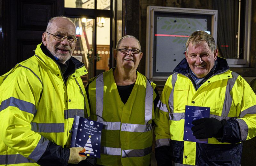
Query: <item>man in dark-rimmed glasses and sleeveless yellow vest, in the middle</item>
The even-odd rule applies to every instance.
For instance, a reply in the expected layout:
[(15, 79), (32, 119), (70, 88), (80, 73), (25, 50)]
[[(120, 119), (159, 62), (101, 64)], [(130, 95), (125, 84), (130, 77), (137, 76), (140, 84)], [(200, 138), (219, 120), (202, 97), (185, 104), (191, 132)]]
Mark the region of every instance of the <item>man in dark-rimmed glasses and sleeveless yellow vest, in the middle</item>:
[(92, 120), (103, 123), (99, 165), (150, 165), (152, 123), (159, 99), (156, 84), (136, 71), (143, 53), (134, 36), (116, 44), (116, 67), (86, 87)]

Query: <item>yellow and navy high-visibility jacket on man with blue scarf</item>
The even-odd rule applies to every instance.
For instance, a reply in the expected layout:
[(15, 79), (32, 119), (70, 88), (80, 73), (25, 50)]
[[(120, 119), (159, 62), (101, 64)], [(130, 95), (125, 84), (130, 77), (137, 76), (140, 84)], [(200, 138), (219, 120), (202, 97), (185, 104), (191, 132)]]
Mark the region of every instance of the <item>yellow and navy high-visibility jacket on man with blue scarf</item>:
[[(186, 59), (165, 83), (156, 109), (156, 148), (170, 146), (174, 165), (240, 165), (241, 141), (256, 135), (256, 96), (249, 84), (217, 58), (213, 76), (198, 90), (190, 80)], [(227, 120), (222, 138), (208, 144), (183, 140), (185, 106), (210, 107), (210, 117)], [(230, 144), (231, 143), (231, 144)]]

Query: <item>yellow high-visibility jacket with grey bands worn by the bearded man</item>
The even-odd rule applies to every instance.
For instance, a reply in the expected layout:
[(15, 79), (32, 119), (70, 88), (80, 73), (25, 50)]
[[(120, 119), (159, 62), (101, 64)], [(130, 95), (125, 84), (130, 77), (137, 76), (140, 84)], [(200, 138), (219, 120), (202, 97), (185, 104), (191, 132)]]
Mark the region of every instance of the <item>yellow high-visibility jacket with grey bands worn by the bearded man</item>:
[(0, 165), (38, 165), (50, 141), (69, 144), (74, 115), (90, 116), (80, 78), (87, 74), (84, 64), (65, 84), (59, 65), (40, 45), (34, 56), (0, 77)]

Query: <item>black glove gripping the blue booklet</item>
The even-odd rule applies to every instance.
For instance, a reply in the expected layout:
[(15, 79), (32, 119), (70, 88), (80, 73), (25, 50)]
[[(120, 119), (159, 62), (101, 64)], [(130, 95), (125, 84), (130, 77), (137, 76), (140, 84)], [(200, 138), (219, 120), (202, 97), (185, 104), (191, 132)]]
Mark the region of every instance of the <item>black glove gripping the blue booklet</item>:
[(227, 123), (225, 119), (219, 121), (215, 118), (201, 118), (192, 122), (191, 130), (196, 139), (219, 138), (223, 136), (223, 126)]

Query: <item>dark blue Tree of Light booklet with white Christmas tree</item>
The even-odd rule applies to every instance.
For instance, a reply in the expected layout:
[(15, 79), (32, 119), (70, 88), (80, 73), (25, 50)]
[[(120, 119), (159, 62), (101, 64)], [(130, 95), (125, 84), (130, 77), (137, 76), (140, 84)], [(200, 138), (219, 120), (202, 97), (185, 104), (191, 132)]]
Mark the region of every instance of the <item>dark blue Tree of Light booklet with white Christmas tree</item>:
[(100, 158), (102, 128), (102, 123), (75, 116), (70, 147), (84, 147), (83, 155)]

